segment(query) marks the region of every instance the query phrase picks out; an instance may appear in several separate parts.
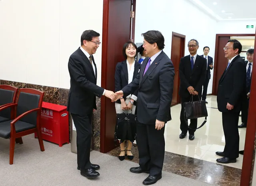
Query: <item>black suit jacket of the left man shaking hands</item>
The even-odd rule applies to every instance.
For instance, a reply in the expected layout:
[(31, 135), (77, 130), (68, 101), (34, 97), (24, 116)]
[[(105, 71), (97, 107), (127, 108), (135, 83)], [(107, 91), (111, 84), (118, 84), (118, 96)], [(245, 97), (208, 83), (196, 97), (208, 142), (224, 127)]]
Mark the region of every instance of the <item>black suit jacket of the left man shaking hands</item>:
[(104, 88), (96, 85), (97, 68), (95, 74), (92, 64), (84, 52), (78, 48), (68, 60), (70, 74), (70, 90), (68, 93), (68, 111), (73, 114), (89, 115), (96, 108), (96, 96), (101, 97)]

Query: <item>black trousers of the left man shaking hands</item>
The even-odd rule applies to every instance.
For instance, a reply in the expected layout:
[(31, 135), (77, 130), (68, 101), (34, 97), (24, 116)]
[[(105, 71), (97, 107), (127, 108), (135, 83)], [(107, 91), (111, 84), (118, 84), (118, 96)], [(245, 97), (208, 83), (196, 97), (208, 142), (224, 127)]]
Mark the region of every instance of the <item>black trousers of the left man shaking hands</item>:
[(80, 169), (91, 168), (92, 114), (70, 114), (76, 127), (77, 165)]

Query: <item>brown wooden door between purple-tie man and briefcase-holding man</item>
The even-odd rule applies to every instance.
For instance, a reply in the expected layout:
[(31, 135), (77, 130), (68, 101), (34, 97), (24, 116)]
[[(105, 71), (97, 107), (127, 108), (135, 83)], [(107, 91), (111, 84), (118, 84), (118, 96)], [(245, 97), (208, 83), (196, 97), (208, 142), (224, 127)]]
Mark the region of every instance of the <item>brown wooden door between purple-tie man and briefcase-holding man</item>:
[(174, 76), (174, 86), (172, 93), (172, 104), (176, 105), (180, 103), (179, 89), (180, 89), (180, 76), (179, 76), (179, 65), (180, 58), (184, 56), (185, 52), (185, 38), (186, 36), (172, 32), (172, 51), (171, 60), (174, 65), (175, 76)]

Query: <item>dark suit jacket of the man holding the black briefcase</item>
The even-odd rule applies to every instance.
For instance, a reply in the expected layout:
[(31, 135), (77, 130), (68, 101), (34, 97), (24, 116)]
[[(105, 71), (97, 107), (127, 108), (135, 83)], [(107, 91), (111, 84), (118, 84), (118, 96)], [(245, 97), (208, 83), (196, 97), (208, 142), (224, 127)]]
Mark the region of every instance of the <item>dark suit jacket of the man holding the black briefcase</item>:
[(206, 61), (206, 58), (197, 55), (194, 68), (191, 70), (190, 55), (180, 59), (180, 96), (184, 98), (191, 96), (188, 92), (189, 86), (194, 87), (198, 95), (202, 95), (202, 86), (206, 77)]

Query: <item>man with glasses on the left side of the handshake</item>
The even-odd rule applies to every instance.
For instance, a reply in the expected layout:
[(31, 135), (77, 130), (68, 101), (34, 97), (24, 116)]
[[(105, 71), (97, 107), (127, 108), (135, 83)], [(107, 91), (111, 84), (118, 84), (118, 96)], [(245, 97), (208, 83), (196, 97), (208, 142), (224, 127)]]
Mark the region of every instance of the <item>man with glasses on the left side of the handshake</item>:
[(96, 85), (97, 68), (92, 54), (100, 45), (100, 34), (86, 30), (81, 36), (81, 46), (71, 54), (68, 60), (70, 90), (68, 94), (68, 111), (76, 127), (77, 169), (86, 178), (95, 178), (100, 174), (100, 166), (91, 164), (90, 147), (92, 138), (92, 112), (96, 108), (96, 96), (102, 95), (115, 99), (114, 92), (104, 90)]

